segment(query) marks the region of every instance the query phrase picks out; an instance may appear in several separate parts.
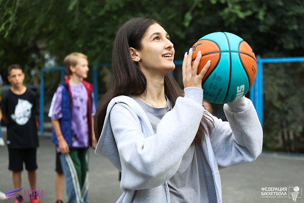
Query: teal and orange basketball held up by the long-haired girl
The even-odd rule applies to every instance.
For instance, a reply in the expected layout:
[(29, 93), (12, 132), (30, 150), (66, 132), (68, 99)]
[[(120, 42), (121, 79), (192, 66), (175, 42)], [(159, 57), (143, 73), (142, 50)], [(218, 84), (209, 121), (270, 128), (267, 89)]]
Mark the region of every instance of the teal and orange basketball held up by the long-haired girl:
[(202, 80), (204, 99), (225, 104), (244, 96), (253, 85), (257, 65), (249, 44), (229, 32), (213, 32), (200, 38), (192, 47), (192, 65), (201, 51), (197, 73), (208, 60), (211, 65)]

